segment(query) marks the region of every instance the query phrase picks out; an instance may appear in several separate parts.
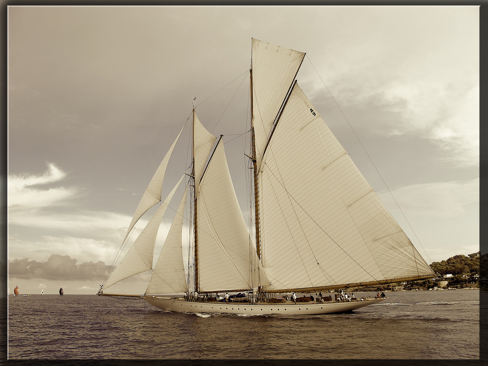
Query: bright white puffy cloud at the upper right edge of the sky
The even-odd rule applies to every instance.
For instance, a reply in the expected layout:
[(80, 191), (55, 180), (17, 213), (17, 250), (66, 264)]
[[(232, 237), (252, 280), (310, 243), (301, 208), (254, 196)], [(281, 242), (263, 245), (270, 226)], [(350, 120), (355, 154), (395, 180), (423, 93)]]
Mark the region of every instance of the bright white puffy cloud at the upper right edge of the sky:
[(402, 116), (389, 134), (421, 131), (459, 164), (479, 164), (479, 85), (395, 82), (381, 94), (386, 109)]

